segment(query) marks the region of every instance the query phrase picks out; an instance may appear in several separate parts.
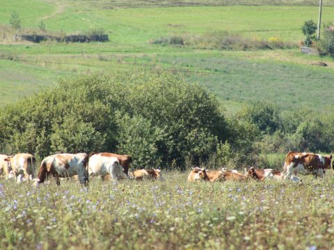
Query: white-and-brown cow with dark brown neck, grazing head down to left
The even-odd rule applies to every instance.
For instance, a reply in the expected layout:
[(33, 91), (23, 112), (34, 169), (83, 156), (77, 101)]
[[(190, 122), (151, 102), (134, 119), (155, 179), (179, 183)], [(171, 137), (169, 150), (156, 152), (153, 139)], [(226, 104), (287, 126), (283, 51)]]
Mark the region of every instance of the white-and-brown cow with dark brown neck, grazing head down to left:
[(78, 175), (79, 183), (88, 185), (88, 154), (57, 153), (42, 160), (35, 185), (44, 183), (49, 176), (54, 176), (57, 185), (61, 185), (59, 178), (75, 175)]

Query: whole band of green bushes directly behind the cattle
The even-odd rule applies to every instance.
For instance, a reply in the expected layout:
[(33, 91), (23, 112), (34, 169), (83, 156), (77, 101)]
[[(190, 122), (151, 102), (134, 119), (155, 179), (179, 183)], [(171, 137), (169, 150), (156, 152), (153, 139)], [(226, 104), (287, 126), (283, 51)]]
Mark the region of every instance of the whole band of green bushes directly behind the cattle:
[(60, 152), (113, 151), (135, 167), (266, 165), (260, 154), (290, 149), (331, 151), (332, 115), (280, 113), (270, 103), (248, 103), (227, 115), (198, 84), (172, 74), (93, 74), (59, 81), (1, 110), (4, 153), (38, 158)]

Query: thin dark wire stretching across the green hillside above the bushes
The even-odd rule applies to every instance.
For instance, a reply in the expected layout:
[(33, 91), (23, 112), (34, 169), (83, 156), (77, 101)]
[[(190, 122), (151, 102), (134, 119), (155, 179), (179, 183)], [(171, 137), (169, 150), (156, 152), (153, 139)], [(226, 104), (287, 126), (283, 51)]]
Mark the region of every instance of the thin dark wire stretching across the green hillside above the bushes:
[[(6, 60), (6, 59), (0, 59)], [(321, 77), (310, 77), (310, 76), (284, 76), (284, 75), (265, 75), (265, 74), (239, 74), (239, 73), (228, 73), (228, 72), (209, 72), (209, 71), (200, 71), (200, 70), (188, 70), (188, 69), (162, 69), (154, 67), (129, 67), (129, 66), (115, 66), (115, 65), (91, 65), (86, 63), (61, 63), (61, 62), (42, 62), (36, 60), (19, 60), (13, 59), (15, 62), (24, 62), (24, 63), (45, 63), (45, 64), (54, 64), (54, 65), (75, 65), (75, 66), (85, 66), (85, 67), (104, 67), (104, 68), (115, 68), (115, 69), (138, 69), (138, 70), (160, 70), (164, 72), (184, 72), (184, 73), (194, 73), (194, 74), (217, 74), (217, 75), (227, 75), (227, 76), (253, 76), (253, 77), (268, 77), (268, 78), (301, 78), (301, 79), (317, 79), (317, 80), (334, 80), (334, 78), (321, 78)]]

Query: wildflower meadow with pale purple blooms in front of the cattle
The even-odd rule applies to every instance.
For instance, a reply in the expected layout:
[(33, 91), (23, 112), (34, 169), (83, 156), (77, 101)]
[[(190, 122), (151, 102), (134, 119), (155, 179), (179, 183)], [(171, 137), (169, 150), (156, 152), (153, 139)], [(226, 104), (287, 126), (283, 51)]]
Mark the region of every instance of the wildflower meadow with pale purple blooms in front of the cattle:
[[(303, 183), (0, 181), (1, 249), (332, 249), (333, 176)], [(312, 247), (312, 248), (310, 248)]]

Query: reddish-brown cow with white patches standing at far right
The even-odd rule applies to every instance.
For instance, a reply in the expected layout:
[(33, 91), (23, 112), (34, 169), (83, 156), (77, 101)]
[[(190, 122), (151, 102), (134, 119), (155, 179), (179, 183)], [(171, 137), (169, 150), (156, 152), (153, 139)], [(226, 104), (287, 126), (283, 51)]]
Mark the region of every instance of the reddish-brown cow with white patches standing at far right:
[[(315, 177), (324, 177), (326, 169), (331, 169), (332, 156), (321, 156), (316, 153), (298, 153), (289, 151), (285, 156), (284, 174), (285, 179), (291, 178), (292, 174), (313, 174)], [(332, 166), (334, 169), (334, 165)]]

